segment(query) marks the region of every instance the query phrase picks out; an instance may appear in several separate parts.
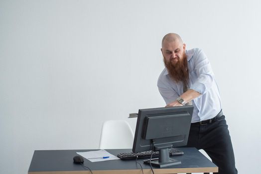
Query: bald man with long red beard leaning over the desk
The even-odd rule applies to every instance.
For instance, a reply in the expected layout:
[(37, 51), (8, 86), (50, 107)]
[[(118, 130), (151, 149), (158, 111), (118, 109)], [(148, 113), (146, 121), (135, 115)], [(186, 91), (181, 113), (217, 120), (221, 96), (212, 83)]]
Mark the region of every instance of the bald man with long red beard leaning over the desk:
[(219, 168), (217, 174), (237, 174), (219, 89), (205, 53), (186, 45), (176, 33), (162, 39), (165, 64), (157, 86), (166, 107), (193, 105), (187, 147), (203, 149)]

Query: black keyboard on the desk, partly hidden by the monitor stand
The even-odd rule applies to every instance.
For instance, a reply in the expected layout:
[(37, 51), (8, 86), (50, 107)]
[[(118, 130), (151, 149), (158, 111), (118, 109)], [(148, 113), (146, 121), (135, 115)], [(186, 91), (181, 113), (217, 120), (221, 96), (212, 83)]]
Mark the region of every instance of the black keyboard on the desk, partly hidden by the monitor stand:
[[(152, 158), (158, 157), (159, 152), (153, 152), (152, 154)], [(176, 148), (171, 148), (169, 149), (169, 156), (179, 156), (179, 155), (183, 155), (184, 152), (180, 151)], [(132, 160), (132, 159), (141, 159), (141, 158), (150, 158), (151, 156), (151, 151), (145, 151), (145, 152), (139, 152), (139, 153), (120, 153), (117, 155), (117, 157), (119, 157), (122, 160)]]

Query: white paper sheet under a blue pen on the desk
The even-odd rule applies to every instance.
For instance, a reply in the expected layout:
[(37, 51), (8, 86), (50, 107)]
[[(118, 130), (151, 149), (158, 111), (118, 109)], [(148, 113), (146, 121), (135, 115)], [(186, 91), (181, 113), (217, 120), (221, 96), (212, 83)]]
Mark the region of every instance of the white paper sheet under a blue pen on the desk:
[[(83, 158), (86, 158), (87, 160), (91, 162), (98, 162), (98, 161), (108, 161), (108, 160), (119, 160), (120, 158), (114, 156), (113, 154), (110, 154), (106, 150), (98, 150), (98, 151), (89, 151), (89, 152), (76, 152), (78, 155), (82, 156)], [(109, 157), (103, 159), (103, 157)], [(90, 159), (90, 158), (96, 158), (96, 159)]]

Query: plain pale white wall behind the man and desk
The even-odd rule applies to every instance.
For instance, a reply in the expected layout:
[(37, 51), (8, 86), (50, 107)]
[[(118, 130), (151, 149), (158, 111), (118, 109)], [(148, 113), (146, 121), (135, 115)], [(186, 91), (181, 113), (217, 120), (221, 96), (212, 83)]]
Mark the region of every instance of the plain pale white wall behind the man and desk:
[(0, 173), (34, 150), (97, 149), (102, 124), (165, 106), (161, 39), (202, 48), (240, 174), (259, 172), (259, 0), (0, 0)]

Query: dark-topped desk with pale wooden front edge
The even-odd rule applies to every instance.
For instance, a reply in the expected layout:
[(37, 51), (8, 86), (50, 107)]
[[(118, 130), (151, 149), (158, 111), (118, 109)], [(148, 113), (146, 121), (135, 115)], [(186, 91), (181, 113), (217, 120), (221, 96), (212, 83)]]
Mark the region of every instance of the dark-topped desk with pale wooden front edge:
[[(184, 155), (174, 158), (181, 161), (181, 165), (161, 169), (153, 168), (153, 171), (156, 174), (218, 172), (218, 167), (196, 148), (179, 149), (184, 152)], [(91, 174), (81, 165), (73, 163), (73, 157), (77, 155), (76, 152), (86, 151), (92, 150), (34, 151), (28, 174)], [(117, 156), (117, 154), (122, 152), (131, 152), (131, 149), (108, 149), (107, 151)], [(144, 174), (152, 174), (150, 166), (143, 164), (143, 160), (137, 161), (141, 164)], [(84, 159), (84, 165), (89, 167), (93, 174), (142, 174), (141, 168), (138, 164), (136, 165), (135, 160), (110, 160), (92, 163)]]

